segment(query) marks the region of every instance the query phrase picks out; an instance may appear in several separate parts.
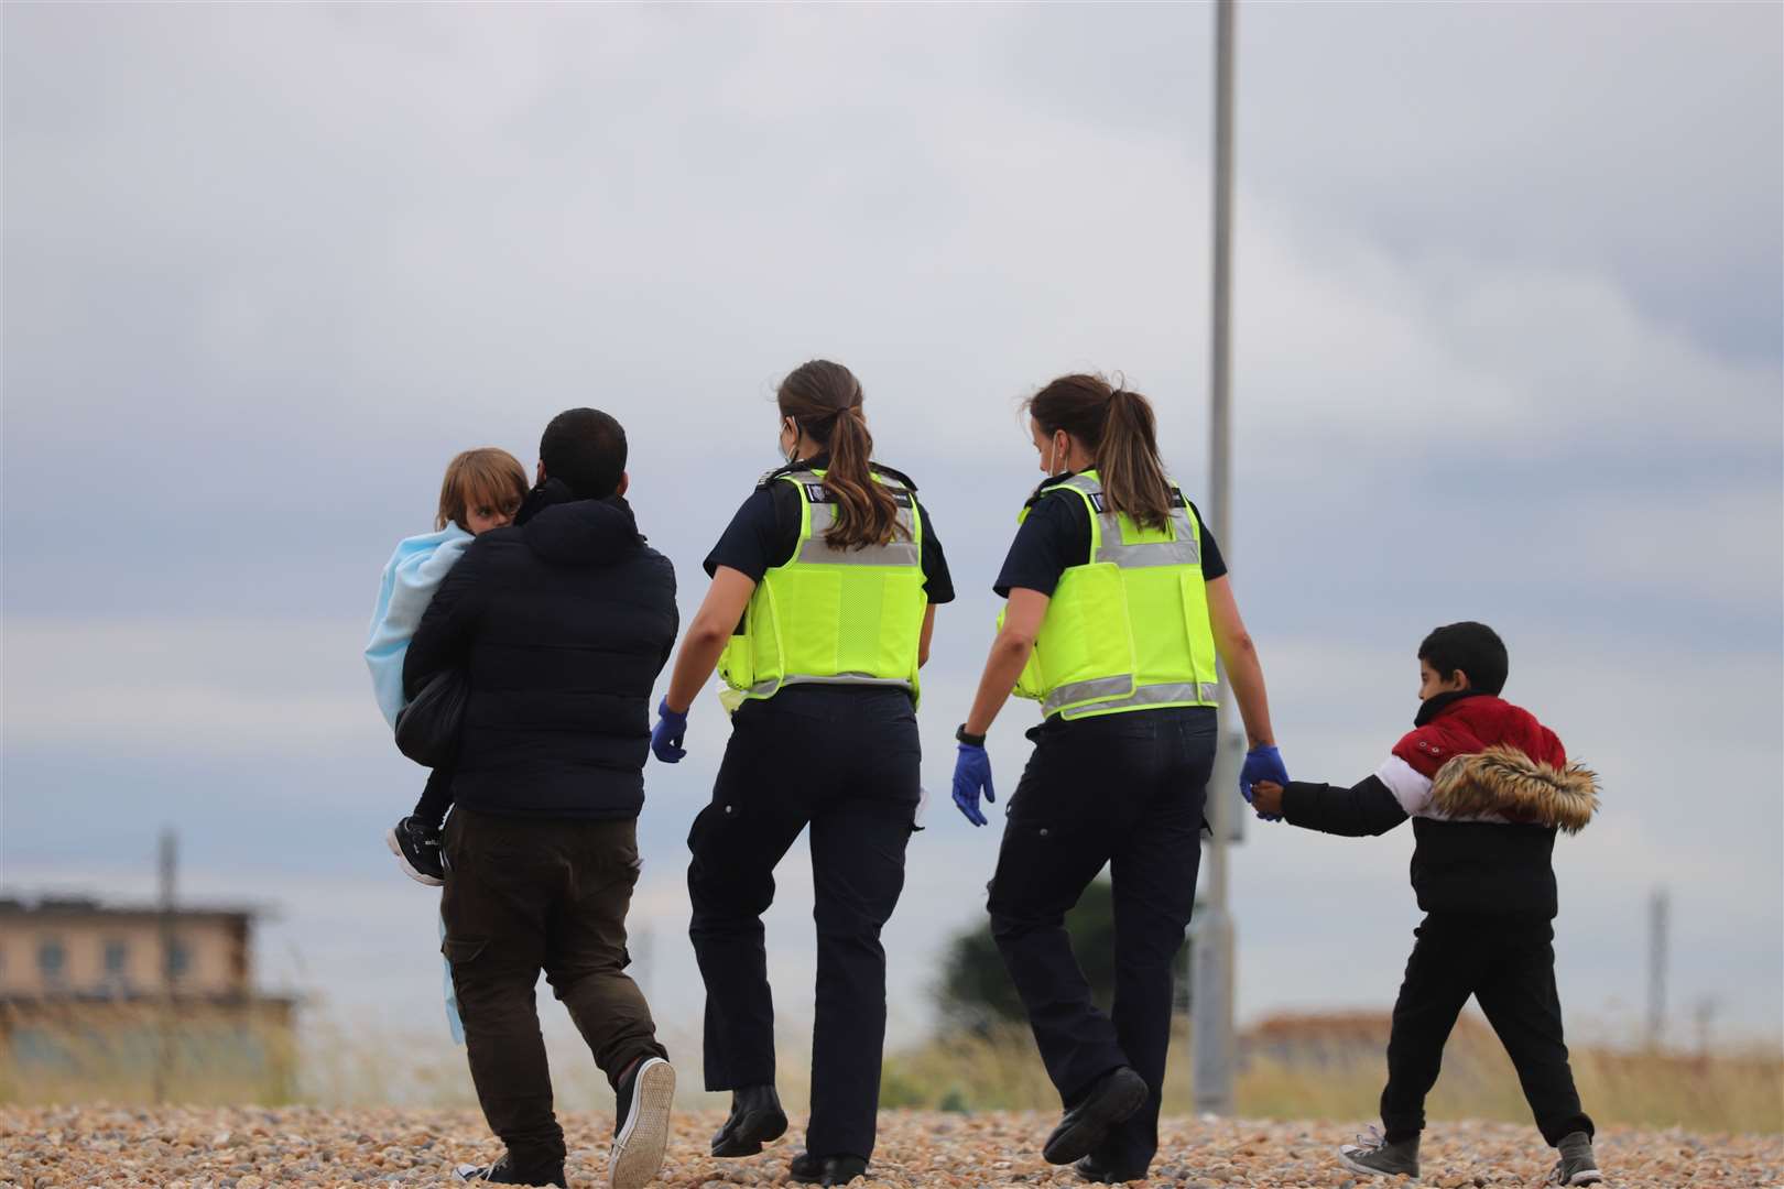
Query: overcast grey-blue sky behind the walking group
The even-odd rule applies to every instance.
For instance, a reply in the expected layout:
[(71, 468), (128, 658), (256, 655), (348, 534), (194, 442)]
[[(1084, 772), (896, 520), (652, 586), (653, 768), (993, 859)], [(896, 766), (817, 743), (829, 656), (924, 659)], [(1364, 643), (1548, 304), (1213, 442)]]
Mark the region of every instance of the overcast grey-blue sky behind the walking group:
[[(1483, 619), (1507, 697), (1604, 777), (1563, 840), (1570, 1027), (1780, 1030), (1784, 70), (1777, 5), (1242, 5), (1235, 531), (1290, 770), (1354, 781), (1415, 649)], [(776, 380), (851, 365), (956, 604), (924, 765), (1038, 480), (1015, 401), (1154, 398), (1208, 506), (1211, 11), (1188, 5), (4, 9), (0, 881), (273, 902), (269, 982), (434, 1011), (435, 897), (380, 834), (423, 774), (360, 647), (446, 458), (632, 437), (640, 526), (699, 560), (774, 463)], [(1211, 512), (1211, 508), (1210, 508)], [(1013, 704), (999, 786), (1026, 758)], [(658, 1014), (692, 1034), (683, 838), (724, 717), (648, 770)], [(946, 799), (944, 799), (946, 800)], [(933, 811), (896, 1020), (976, 923), (995, 831)], [(1384, 1009), (1409, 831), (1252, 825), (1240, 1013)], [(810, 879), (772, 943), (808, 1011)], [(555, 1011), (555, 1009), (553, 1009)]]

